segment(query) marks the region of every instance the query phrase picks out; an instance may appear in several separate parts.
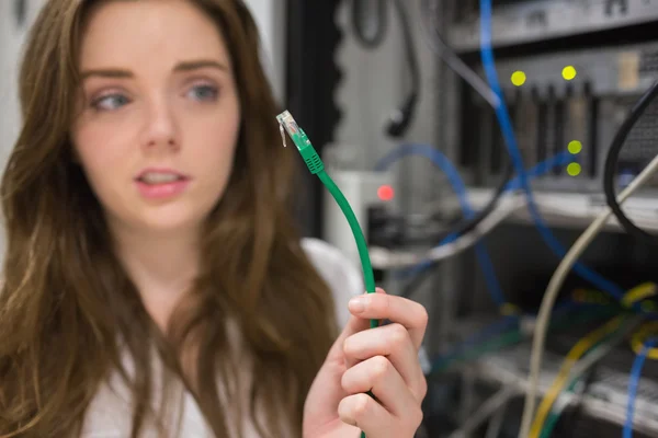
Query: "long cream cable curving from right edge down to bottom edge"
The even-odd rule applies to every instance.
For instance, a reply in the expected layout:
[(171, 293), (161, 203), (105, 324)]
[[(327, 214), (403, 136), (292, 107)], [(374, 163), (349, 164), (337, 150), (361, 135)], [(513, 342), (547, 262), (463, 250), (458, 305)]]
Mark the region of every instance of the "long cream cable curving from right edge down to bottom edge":
[[(617, 201), (623, 204), (635, 191), (642, 187), (656, 172), (658, 172), (658, 155), (651, 160), (649, 165), (633, 182), (619, 195)], [(523, 407), (523, 417), (521, 420), (521, 429), (519, 431), (519, 438), (526, 438), (530, 433), (530, 427), (535, 411), (535, 403), (537, 396), (537, 387), (540, 384), (540, 373), (542, 371), (542, 356), (544, 353), (544, 342), (546, 341), (546, 332), (548, 330), (548, 322), (551, 321), (551, 313), (553, 312), (553, 306), (559, 293), (561, 285), (564, 284), (569, 270), (590, 244), (597, 237), (599, 231), (605, 226), (608, 219), (612, 215), (610, 208), (605, 208), (603, 211), (585, 232), (578, 238), (576, 243), (571, 246), (567, 255), (563, 258), (559, 266), (553, 274), (548, 288), (542, 299), (542, 306), (536, 320), (534, 330), (532, 353), (530, 356), (530, 374), (527, 378), (527, 392), (525, 393), (525, 405)]]

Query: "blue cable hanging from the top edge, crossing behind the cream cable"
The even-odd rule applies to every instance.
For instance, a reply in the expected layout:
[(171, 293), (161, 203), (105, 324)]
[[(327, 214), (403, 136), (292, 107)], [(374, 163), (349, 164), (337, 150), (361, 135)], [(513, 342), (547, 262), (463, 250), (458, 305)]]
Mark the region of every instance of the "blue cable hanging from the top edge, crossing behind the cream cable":
[[(491, 0), (480, 0), (479, 4), (480, 57), (487, 77), (487, 82), (489, 82), (489, 87), (491, 88), (491, 90), (494, 90), (494, 92), (498, 95), (500, 100), (500, 104), (494, 108), (496, 112), (496, 117), (498, 118), (498, 123), (500, 124), (502, 136), (504, 138), (504, 143), (514, 164), (514, 169), (519, 174), (519, 182), (521, 188), (523, 188), (523, 191), (525, 192), (527, 198), (527, 209), (535, 223), (535, 227), (542, 235), (543, 240), (548, 245), (548, 247), (558, 257), (561, 258), (565, 256), (567, 251), (561, 245), (561, 243), (555, 238), (555, 235), (553, 235), (553, 232), (546, 226), (544, 219), (542, 218), (537, 209), (534, 196), (532, 194), (532, 188), (530, 187), (530, 184), (527, 182), (527, 172), (523, 166), (523, 158), (521, 157), (521, 151), (517, 146), (517, 138), (514, 136), (512, 123), (510, 120), (508, 108), (504, 103), (504, 96), (502, 94), (500, 83), (498, 82), (498, 73), (496, 72), (496, 64), (494, 61), (494, 50), (491, 48)], [(624, 290), (621, 287), (603, 278), (601, 275), (589, 269), (581, 263), (576, 263), (574, 265), (574, 272), (576, 272), (576, 274), (578, 274), (583, 279), (594, 285), (598, 289), (606, 291), (617, 299), (621, 299), (624, 296)]]

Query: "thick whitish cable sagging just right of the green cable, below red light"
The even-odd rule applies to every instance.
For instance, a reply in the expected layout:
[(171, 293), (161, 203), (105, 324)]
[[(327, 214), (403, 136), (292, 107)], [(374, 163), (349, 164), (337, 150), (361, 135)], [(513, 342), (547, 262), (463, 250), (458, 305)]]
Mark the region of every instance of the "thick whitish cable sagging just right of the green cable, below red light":
[(504, 199), (500, 200), (500, 206), (487, 216), (473, 231), (462, 235), (456, 241), (434, 247), (424, 254), (392, 251), (381, 246), (371, 246), (370, 256), (373, 267), (378, 269), (402, 268), (416, 266), (423, 262), (438, 262), (450, 258), (470, 246), (475, 245), (481, 238), (491, 232), (498, 224), (506, 220), (513, 212), (520, 210), (525, 205), (525, 198), (520, 195), (508, 195), (507, 205)]

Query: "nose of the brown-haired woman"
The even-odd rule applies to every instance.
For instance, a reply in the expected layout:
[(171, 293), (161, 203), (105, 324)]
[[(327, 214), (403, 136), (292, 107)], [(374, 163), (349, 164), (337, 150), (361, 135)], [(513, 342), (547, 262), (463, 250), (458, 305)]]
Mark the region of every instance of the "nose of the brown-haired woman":
[(178, 151), (180, 149), (175, 115), (164, 100), (154, 100), (148, 105), (143, 145), (147, 151)]

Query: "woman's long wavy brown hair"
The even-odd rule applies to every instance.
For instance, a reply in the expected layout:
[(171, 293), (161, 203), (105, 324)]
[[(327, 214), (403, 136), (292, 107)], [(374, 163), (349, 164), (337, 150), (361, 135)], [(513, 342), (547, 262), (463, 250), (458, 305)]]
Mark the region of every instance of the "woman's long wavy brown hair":
[[(21, 66), (24, 123), (0, 188), (7, 222), (0, 436), (79, 435), (99, 387), (117, 371), (133, 393), (137, 437), (157, 417), (152, 347), (167, 376), (194, 394), (217, 437), (228, 435), (231, 419), (222, 381), (247, 394), (245, 415), (262, 436), (284, 435), (281, 414), (300, 436), (304, 400), (336, 335), (334, 312), (290, 215), (294, 152), (281, 145), (257, 26), (240, 0), (194, 0), (225, 37), (242, 126), (226, 194), (208, 218), (202, 274), (161, 333), (112, 251), (99, 201), (71, 152), (77, 58), (92, 3), (48, 0)], [(251, 359), (249, 388), (229, 384), (240, 365), (227, 354), (227, 321)], [(181, 365), (186, 349), (196, 351), (192, 369)], [(126, 351), (131, 372), (121, 359)]]

